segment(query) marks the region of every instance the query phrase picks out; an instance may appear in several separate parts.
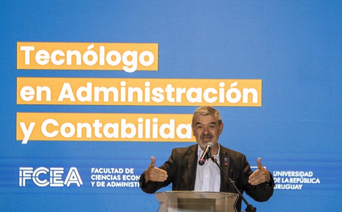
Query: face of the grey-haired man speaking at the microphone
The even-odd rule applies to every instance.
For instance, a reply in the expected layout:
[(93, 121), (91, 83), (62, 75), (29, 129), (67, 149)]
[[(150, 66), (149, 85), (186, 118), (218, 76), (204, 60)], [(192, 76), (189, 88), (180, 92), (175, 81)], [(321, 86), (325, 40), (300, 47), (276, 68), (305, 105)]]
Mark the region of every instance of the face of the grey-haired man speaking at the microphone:
[(214, 115), (196, 116), (193, 120), (192, 133), (202, 150), (205, 149), (209, 142), (214, 144), (214, 148), (217, 146), (222, 129), (223, 123), (219, 125)]

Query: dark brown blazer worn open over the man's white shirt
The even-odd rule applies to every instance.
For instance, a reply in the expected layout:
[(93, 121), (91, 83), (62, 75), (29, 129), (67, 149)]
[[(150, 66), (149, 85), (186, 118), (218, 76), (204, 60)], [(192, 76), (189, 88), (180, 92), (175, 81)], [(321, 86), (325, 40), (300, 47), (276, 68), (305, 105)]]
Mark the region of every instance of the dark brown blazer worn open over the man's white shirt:
[[(197, 148), (192, 145), (187, 148), (172, 149), (169, 160), (160, 169), (168, 172), (168, 179), (164, 182), (144, 183), (144, 173), (140, 176), (140, 188), (147, 193), (154, 193), (160, 188), (172, 183), (172, 191), (193, 191), (195, 188), (195, 177), (197, 167)], [(231, 178), (241, 193), (244, 191), (254, 200), (267, 201), (273, 194), (274, 183), (266, 183), (252, 186), (248, 183), (248, 177), (253, 173), (246, 160), (246, 156), (229, 148), (220, 145), (220, 166)], [(271, 175), (272, 178), (272, 175)], [(225, 176), (221, 173), (220, 191), (236, 193), (229, 185)], [(241, 211), (241, 198), (236, 203), (236, 210)]]

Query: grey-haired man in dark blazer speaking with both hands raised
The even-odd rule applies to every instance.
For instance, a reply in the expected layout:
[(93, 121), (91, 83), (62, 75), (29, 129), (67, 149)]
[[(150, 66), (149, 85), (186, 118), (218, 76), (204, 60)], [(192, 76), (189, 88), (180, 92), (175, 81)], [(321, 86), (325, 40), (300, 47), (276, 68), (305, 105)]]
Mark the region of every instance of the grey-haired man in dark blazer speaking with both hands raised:
[[(172, 149), (169, 160), (159, 168), (155, 167), (155, 158), (151, 157), (150, 166), (140, 176), (140, 188), (154, 193), (172, 183), (172, 191), (236, 193), (217, 165), (206, 160), (204, 155), (210, 149), (211, 155), (241, 193), (245, 191), (259, 202), (267, 201), (274, 188), (271, 173), (261, 165), (261, 158), (257, 159), (258, 169), (253, 172), (245, 155), (221, 146), (218, 138), (222, 130), (223, 122), (218, 110), (211, 106), (197, 108), (192, 117), (192, 133), (197, 144)], [(237, 200), (236, 210), (241, 211), (241, 198)]]

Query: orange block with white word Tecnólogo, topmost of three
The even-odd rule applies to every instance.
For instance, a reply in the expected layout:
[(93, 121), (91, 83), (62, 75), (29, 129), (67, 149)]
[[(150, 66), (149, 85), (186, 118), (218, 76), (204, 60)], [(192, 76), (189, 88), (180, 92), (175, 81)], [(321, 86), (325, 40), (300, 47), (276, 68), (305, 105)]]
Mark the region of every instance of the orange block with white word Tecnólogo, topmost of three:
[(17, 68), (158, 70), (158, 43), (17, 42)]

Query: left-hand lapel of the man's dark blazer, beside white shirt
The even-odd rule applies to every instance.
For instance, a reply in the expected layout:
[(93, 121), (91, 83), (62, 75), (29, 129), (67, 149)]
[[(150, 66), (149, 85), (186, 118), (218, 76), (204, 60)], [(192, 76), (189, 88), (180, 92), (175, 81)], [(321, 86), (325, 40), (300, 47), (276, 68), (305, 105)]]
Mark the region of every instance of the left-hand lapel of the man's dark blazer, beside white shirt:
[(197, 148), (198, 145), (193, 145), (188, 152), (188, 177), (189, 177), (189, 191), (195, 189), (195, 178), (197, 169)]

